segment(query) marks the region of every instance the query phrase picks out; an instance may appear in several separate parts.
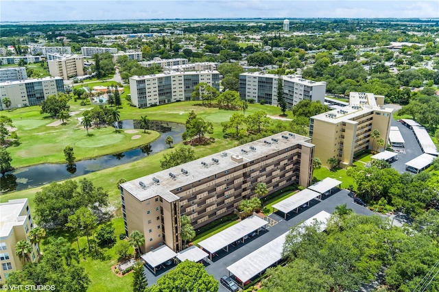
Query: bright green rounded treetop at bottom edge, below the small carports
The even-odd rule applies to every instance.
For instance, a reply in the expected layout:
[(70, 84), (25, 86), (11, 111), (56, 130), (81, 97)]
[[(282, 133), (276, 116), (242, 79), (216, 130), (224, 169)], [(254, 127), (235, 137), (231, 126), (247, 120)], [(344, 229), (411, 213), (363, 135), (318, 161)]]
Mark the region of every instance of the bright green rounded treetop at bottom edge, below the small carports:
[(204, 265), (185, 260), (179, 263), (176, 269), (165, 273), (157, 284), (145, 289), (145, 292), (160, 291), (198, 291), (198, 292), (217, 292), (219, 289), (218, 281), (209, 275), (204, 269)]

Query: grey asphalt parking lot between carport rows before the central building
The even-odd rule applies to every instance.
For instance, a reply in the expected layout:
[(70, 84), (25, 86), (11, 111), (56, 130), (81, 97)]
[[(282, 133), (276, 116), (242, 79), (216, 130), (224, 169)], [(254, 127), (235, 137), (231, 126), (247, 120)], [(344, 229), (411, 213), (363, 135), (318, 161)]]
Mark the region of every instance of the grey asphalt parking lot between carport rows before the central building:
[[(328, 197), (324, 197), (322, 202), (318, 202), (318, 200), (313, 199), (309, 207), (301, 209), (298, 214), (292, 212), (290, 214), (291, 216), (288, 216), (286, 220), (281, 217), (283, 215), (270, 215), (271, 219), (278, 221), (276, 225), (267, 228), (267, 231), (260, 232), (259, 236), (255, 236), (252, 239), (247, 240), (245, 244), (239, 244), (235, 247), (230, 246), (228, 253), (224, 251), (218, 252), (218, 256), (215, 256), (213, 258), (213, 261), (209, 260), (209, 263), (206, 264), (206, 271), (212, 274), (215, 279), (219, 280), (222, 276), (228, 275), (226, 267), (232, 265), (237, 260), (243, 258), (244, 256), (247, 256), (248, 254), (250, 254), (254, 250), (257, 250), (259, 247), (265, 245), (266, 243), (269, 243), (281, 234), (287, 232), (287, 230), (289, 230), (289, 228), (291, 228), (292, 226), (296, 226), (298, 223), (305, 221), (310, 217), (313, 217), (322, 210), (332, 213), (335, 210), (336, 206), (344, 203), (347, 204), (348, 208), (355, 210), (355, 212), (357, 212), (358, 214), (375, 214), (367, 208), (355, 204), (353, 202), (353, 199), (348, 196), (348, 191), (346, 190), (342, 190)], [(145, 269), (148, 284), (155, 284), (158, 278), (163, 276), (163, 274), (166, 271), (169, 271), (169, 269), (173, 269), (173, 267), (162, 269), (157, 276), (154, 276), (154, 274), (149, 269)], [(226, 291), (228, 290), (222, 287), (222, 285), (220, 284), (219, 292)]]

